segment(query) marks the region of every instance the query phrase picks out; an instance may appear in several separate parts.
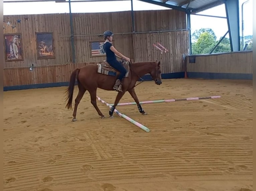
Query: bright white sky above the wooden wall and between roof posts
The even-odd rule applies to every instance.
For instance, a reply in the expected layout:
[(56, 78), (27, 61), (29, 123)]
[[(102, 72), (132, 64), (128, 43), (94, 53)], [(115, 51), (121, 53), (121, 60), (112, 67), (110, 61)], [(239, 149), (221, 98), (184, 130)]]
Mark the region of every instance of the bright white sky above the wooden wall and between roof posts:
[[(10, 1), (10, 0), (9, 0)], [(242, 36), (242, 14), (241, 6), (246, 0), (239, 0), (240, 12), (240, 36)], [(244, 4), (244, 36), (252, 35), (252, 7), (253, 0)], [(33, 8), (29, 9), (28, 7)], [(133, 0), (133, 10), (164, 10), (166, 7)], [(108, 1), (108, 2), (74, 2), (71, 3), (72, 13), (93, 13), (93, 12), (116, 12), (130, 11), (131, 1)], [(69, 3), (55, 2), (23, 2), (23, 3), (3, 3), (4, 15), (23, 15), (23, 14), (48, 14), (48, 13), (69, 13)], [(225, 5), (220, 5), (198, 14), (226, 17)], [(228, 31), (227, 19), (191, 15), (191, 34), (200, 28), (211, 28), (215, 32), (217, 39), (220, 39)], [(226, 35), (229, 38), (229, 35)]]

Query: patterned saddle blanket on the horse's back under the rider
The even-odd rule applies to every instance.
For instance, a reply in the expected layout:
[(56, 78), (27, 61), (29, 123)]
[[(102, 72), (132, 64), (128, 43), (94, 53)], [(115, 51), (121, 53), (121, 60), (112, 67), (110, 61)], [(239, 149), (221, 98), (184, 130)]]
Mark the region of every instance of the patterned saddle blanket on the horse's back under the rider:
[[(129, 62), (122, 59), (120, 63), (124, 66), (124, 68), (127, 71), (125, 74), (125, 77), (128, 77), (130, 72)], [(120, 74), (120, 72), (114, 69), (112, 66), (110, 66), (110, 64), (106, 60), (104, 60), (101, 63), (98, 63), (97, 66), (98, 66), (98, 73), (100, 74), (105, 74), (109, 76), (118, 76)]]

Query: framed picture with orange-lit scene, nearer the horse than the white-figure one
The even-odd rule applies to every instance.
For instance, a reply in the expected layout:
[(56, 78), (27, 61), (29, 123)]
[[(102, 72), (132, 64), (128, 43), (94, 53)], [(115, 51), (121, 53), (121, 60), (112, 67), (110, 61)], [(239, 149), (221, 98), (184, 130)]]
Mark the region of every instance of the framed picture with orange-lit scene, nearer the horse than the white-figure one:
[(37, 59), (55, 58), (52, 32), (37, 32), (35, 35)]

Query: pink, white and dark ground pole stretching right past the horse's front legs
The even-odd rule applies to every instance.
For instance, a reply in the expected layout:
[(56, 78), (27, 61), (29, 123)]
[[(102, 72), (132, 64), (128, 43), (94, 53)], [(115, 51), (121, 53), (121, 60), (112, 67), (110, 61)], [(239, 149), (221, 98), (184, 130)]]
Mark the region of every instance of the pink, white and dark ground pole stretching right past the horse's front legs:
[[(148, 104), (148, 103), (161, 103), (161, 102), (173, 102), (173, 101), (185, 101), (185, 100), (199, 100), (199, 99), (215, 99), (220, 98), (220, 95), (216, 96), (208, 96), (208, 97), (189, 97), (189, 98), (181, 98), (181, 99), (162, 99), (162, 100), (154, 100), (154, 101), (140, 101), (140, 104)], [(136, 102), (127, 102), (127, 103), (118, 103), (117, 106), (121, 105), (135, 105)], [(109, 104), (110, 106), (114, 104)]]

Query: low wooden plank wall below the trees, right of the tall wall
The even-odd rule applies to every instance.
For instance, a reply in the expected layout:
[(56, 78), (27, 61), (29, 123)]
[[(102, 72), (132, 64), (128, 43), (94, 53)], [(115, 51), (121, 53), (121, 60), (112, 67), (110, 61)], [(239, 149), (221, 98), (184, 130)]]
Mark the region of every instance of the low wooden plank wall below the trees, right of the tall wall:
[(252, 51), (213, 55), (197, 55), (196, 63), (189, 63), (187, 72), (252, 74)]

